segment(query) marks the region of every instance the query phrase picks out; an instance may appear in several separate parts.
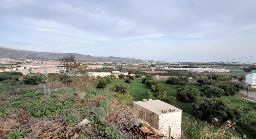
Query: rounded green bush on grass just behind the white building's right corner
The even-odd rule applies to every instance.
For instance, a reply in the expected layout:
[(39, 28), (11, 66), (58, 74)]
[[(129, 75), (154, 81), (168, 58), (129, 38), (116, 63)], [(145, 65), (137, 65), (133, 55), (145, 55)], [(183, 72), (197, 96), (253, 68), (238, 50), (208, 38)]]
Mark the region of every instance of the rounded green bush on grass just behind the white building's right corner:
[(183, 103), (196, 102), (200, 95), (200, 92), (197, 89), (188, 86), (178, 88), (177, 92), (177, 99)]

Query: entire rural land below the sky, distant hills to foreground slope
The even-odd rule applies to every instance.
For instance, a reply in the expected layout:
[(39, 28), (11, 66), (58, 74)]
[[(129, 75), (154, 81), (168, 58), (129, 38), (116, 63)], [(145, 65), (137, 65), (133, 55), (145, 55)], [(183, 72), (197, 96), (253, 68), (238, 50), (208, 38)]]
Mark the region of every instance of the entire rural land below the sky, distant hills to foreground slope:
[(0, 138), (256, 137), (256, 63), (2, 50)]

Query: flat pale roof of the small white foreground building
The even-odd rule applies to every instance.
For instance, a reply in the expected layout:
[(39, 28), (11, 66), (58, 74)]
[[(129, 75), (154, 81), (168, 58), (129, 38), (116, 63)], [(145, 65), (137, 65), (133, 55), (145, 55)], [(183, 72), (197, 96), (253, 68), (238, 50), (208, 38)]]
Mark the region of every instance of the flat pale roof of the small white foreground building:
[(166, 114), (166, 113), (163, 113), (162, 110), (168, 110), (167, 113), (174, 113), (174, 112), (169, 112), (170, 109), (175, 109), (175, 112), (182, 112), (181, 109), (178, 109), (175, 106), (172, 106), (172, 105), (165, 103), (161, 100), (152, 100), (152, 101), (147, 101), (147, 102), (137, 101), (137, 102), (133, 102), (133, 103), (137, 104), (151, 112), (154, 112), (157, 115)]

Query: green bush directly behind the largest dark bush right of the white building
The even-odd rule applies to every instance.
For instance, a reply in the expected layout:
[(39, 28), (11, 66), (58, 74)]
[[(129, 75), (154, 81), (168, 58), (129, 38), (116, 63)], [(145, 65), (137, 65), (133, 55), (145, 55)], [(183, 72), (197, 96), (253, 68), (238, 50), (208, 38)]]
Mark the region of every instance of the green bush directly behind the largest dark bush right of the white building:
[(203, 85), (200, 89), (208, 98), (221, 97), (224, 95), (224, 90), (211, 85)]

